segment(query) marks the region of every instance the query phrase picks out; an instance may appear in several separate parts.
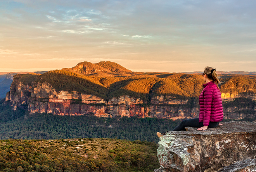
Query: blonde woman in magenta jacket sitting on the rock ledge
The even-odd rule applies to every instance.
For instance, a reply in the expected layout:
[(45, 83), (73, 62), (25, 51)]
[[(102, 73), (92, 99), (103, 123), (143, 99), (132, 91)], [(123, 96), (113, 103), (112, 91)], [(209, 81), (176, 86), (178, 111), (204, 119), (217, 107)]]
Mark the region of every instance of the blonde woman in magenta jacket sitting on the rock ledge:
[[(173, 131), (186, 131), (186, 126), (197, 127), (197, 130), (204, 131), (207, 128), (217, 127), (223, 119), (221, 93), (218, 86), (220, 77), (216, 73), (216, 69), (208, 66), (204, 68), (202, 76), (206, 84), (203, 84), (204, 89), (199, 96), (199, 118), (183, 120)], [(158, 137), (163, 135), (165, 133), (157, 133)]]

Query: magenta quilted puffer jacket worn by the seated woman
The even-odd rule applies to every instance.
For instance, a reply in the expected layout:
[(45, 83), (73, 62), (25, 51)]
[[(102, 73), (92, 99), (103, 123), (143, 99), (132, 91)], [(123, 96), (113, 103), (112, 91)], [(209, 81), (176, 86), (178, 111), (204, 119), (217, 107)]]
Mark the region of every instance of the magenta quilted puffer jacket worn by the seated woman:
[(214, 81), (203, 84), (204, 89), (199, 96), (199, 122), (220, 122), (223, 119), (221, 93)]

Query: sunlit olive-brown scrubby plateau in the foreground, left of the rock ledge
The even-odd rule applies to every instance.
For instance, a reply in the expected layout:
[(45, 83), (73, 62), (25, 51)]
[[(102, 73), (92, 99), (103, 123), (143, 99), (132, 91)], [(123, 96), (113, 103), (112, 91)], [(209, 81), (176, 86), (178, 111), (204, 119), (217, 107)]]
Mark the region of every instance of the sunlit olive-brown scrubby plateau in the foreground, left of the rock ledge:
[(0, 140), (3, 172), (149, 172), (157, 145), (118, 139)]

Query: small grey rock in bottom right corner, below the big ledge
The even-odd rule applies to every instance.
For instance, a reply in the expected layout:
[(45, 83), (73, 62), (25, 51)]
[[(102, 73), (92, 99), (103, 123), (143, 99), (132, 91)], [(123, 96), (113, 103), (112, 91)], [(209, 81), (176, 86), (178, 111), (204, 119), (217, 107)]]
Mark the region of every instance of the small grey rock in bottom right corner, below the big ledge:
[(256, 159), (247, 159), (224, 167), (218, 172), (256, 172)]

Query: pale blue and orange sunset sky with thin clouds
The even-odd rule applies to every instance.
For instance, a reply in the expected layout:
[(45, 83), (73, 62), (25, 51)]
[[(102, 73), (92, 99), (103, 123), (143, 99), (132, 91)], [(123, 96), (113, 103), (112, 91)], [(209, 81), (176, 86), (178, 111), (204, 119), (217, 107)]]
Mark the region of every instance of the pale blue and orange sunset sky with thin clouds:
[(256, 71), (255, 0), (0, 0), (0, 72), (112, 61)]

